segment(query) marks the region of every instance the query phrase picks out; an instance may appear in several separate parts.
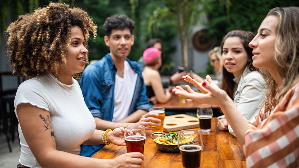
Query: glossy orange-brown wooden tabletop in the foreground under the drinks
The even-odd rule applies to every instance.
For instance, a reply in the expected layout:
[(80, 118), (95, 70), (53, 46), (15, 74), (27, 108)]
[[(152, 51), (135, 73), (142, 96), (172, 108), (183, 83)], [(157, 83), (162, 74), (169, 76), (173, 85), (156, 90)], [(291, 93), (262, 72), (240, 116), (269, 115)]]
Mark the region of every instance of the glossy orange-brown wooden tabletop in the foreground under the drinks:
[[(205, 167), (246, 167), (241, 145), (229, 132), (216, 129), (217, 118), (212, 118), (212, 131), (202, 133), (203, 150), (201, 152), (202, 168)], [(199, 129), (199, 128), (195, 128)], [(146, 160), (142, 167), (148, 168), (181, 168), (180, 153), (165, 153), (157, 149), (150, 137), (151, 131), (146, 131), (144, 156)], [(93, 158), (113, 159), (127, 152), (126, 147), (107, 145), (98, 151)]]

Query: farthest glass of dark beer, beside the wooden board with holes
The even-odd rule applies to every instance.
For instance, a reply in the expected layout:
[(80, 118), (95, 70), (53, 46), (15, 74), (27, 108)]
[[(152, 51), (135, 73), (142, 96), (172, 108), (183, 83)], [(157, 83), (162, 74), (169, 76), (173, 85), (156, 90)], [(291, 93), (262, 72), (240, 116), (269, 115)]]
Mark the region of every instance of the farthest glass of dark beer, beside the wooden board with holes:
[(210, 132), (213, 110), (211, 105), (199, 105), (197, 106), (196, 116), (199, 118), (199, 127), (202, 132)]

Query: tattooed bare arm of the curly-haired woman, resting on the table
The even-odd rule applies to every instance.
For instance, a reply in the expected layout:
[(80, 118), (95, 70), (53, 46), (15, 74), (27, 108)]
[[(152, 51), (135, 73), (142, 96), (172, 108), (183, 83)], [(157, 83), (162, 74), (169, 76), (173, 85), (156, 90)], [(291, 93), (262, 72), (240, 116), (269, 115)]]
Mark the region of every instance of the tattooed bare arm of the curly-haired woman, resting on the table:
[[(111, 160), (58, 151), (49, 111), (29, 103), (21, 103), (17, 106), (17, 114), (25, 140), (41, 167), (120, 167), (141, 164), (144, 160), (144, 156), (136, 152)], [(45, 126), (48, 129), (45, 130)], [(122, 162), (123, 160), (126, 162)]]

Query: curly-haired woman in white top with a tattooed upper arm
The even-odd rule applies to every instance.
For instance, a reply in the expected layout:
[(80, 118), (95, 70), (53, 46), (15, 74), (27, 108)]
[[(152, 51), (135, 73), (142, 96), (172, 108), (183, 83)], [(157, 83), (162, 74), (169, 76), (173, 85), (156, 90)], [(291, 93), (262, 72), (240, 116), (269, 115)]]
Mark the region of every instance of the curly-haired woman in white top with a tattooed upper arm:
[[(140, 167), (141, 153), (115, 159), (79, 156), (81, 144), (125, 145), (124, 129), (95, 130), (78, 82), (89, 31), (97, 26), (78, 7), (50, 3), (7, 28), (13, 74), (27, 77), (15, 97), (21, 144), (18, 167)], [(104, 140), (102, 140), (102, 135)]]

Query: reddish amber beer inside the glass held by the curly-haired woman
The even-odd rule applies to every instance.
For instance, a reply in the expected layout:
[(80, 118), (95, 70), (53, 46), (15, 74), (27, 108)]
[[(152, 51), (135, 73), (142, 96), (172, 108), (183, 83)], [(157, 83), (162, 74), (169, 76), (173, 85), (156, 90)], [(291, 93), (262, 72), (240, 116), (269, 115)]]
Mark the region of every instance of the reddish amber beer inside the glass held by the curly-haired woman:
[(143, 154), (145, 136), (132, 135), (125, 137), (127, 152), (140, 152)]

